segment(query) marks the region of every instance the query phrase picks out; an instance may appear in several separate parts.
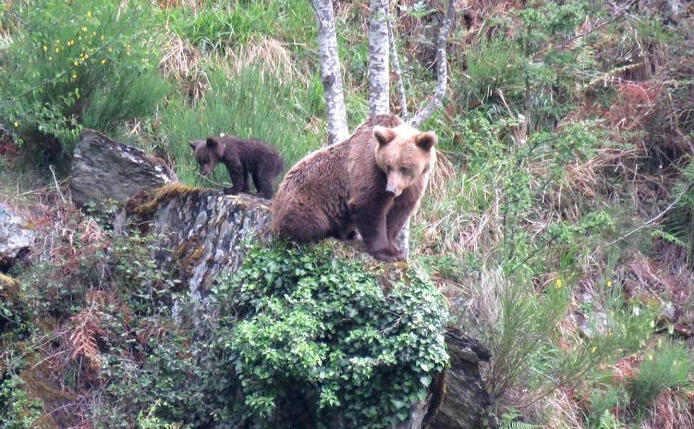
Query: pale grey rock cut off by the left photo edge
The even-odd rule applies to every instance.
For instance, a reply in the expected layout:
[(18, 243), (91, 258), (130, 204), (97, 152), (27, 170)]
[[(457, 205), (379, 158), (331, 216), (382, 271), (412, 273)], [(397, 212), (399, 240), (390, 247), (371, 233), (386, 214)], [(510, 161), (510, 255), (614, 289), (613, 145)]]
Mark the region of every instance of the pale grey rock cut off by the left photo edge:
[(0, 204), (0, 268), (26, 255), (35, 239), (32, 225)]

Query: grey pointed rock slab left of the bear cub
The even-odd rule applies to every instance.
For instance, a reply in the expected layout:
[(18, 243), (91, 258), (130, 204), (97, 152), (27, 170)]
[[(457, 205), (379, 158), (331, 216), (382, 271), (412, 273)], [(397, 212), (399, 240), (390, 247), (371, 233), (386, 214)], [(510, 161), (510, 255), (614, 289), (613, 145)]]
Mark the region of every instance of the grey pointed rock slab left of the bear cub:
[(125, 201), (142, 189), (177, 182), (162, 159), (85, 129), (75, 147), (70, 189), (73, 202)]

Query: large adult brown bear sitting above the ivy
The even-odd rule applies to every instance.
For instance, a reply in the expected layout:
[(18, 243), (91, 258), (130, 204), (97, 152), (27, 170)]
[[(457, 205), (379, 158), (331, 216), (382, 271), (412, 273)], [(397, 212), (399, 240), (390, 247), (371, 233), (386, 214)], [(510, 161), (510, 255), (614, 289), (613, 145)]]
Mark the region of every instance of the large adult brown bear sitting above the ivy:
[(362, 236), (378, 260), (403, 260), (400, 231), (436, 162), (436, 135), (379, 115), (300, 160), (272, 202), (272, 230), (297, 242)]

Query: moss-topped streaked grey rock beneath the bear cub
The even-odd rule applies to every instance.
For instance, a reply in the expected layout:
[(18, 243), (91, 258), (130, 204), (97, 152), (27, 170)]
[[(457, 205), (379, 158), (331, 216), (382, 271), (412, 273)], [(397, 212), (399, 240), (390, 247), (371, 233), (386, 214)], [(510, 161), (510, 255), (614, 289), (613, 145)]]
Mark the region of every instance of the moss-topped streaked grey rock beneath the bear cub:
[(157, 245), (169, 249), (158, 255), (159, 266), (201, 298), (221, 274), (241, 267), (246, 243), (269, 240), (269, 222), (260, 198), (170, 184), (131, 198), (116, 229), (136, 226), (156, 236)]

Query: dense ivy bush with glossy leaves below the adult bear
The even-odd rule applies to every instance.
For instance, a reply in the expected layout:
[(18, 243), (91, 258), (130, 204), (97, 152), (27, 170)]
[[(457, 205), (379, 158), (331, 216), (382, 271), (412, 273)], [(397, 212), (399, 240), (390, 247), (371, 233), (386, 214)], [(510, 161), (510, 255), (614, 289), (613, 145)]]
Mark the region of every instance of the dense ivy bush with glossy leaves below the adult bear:
[(252, 250), (228, 289), (231, 318), (243, 318), (229, 351), (252, 413), (270, 418), (298, 407), (311, 426), (348, 428), (403, 421), (447, 359), (444, 302), (419, 270), (405, 276), (384, 291), (328, 246)]

